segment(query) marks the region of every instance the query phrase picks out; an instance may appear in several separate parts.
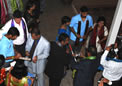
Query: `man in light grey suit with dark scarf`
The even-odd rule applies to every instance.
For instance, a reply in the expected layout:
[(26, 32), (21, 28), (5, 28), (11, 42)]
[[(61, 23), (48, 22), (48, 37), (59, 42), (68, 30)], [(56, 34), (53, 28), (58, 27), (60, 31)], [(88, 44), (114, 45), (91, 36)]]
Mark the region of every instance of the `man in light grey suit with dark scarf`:
[(33, 28), (31, 36), (28, 37), (26, 43), (26, 56), (30, 57), (32, 61), (26, 61), (25, 64), (28, 67), (29, 72), (37, 76), (37, 82), (34, 83), (34, 86), (45, 86), (43, 73), (49, 51), (49, 42), (40, 35), (39, 29)]

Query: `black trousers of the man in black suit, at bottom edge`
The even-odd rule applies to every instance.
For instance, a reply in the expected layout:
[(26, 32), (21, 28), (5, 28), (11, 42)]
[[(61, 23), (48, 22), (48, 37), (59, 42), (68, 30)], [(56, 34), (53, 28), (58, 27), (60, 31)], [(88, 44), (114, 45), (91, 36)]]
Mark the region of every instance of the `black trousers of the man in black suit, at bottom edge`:
[(61, 80), (61, 77), (49, 77), (49, 86), (60, 86)]

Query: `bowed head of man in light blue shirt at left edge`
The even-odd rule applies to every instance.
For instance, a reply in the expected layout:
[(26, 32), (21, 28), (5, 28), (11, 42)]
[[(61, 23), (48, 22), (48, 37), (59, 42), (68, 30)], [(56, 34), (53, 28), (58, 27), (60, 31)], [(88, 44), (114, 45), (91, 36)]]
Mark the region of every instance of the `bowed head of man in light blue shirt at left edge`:
[(15, 40), (20, 35), (20, 33), (16, 27), (10, 27), (10, 29), (7, 32), (7, 35), (9, 39)]

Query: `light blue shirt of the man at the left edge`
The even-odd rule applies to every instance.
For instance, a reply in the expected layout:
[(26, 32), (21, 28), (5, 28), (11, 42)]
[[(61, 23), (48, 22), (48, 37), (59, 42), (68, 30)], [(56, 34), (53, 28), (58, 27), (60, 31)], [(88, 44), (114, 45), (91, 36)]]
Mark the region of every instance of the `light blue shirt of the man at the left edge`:
[[(0, 40), (0, 54), (2, 54), (5, 58), (14, 56), (14, 48), (13, 41), (9, 40), (6, 36), (3, 35)], [(5, 62), (10, 62), (11, 60), (6, 60)]]

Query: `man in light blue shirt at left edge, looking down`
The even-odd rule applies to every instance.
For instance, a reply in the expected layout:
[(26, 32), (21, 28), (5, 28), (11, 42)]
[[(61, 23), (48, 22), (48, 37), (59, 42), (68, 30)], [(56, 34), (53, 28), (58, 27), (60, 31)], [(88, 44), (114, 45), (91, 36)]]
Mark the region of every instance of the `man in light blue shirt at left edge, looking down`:
[(8, 67), (13, 58), (20, 57), (19, 55), (15, 56), (13, 40), (19, 36), (19, 31), (15, 27), (11, 27), (7, 34), (2, 35), (0, 39), (0, 54), (3, 55), (6, 59), (4, 67)]

